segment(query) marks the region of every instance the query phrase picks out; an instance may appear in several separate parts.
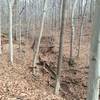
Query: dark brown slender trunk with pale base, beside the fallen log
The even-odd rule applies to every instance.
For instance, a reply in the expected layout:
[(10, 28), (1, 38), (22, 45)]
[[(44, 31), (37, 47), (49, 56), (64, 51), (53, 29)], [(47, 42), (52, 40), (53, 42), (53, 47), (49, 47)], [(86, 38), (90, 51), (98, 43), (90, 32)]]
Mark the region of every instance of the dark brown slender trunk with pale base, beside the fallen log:
[(61, 67), (62, 67), (62, 58), (63, 58), (63, 41), (64, 41), (65, 3), (66, 3), (66, 0), (62, 0), (62, 19), (61, 19), (61, 32), (60, 32), (60, 43), (59, 43), (59, 57), (58, 57), (58, 68), (57, 68), (56, 86), (55, 86), (56, 95), (59, 94), (59, 90), (60, 90), (60, 77), (61, 77)]

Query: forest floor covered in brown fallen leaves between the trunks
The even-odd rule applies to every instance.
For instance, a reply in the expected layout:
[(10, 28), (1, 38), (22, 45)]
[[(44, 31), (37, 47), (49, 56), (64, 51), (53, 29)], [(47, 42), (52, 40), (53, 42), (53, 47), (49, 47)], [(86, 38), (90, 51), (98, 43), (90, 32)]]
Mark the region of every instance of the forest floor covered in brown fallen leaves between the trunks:
[[(63, 66), (61, 75), (61, 91), (55, 96), (55, 79), (52, 71), (56, 72), (58, 60), (59, 35), (53, 33), (53, 37), (44, 36), (41, 41), (39, 63), (39, 77), (34, 79), (32, 75), (33, 51), (32, 42), (19, 45), (14, 41), (14, 64), (8, 60), (8, 39), (3, 36), (3, 54), (0, 58), (0, 100), (86, 100), (87, 80), (89, 69), (89, 48), (91, 25), (84, 30), (81, 42), (80, 56), (77, 55), (77, 37), (73, 49), (75, 63), (69, 66), (70, 26), (65, 29)], [(78, 35), (77, 35), (78, 36)], [(52, 77), (52, 78), (51, 78)]]

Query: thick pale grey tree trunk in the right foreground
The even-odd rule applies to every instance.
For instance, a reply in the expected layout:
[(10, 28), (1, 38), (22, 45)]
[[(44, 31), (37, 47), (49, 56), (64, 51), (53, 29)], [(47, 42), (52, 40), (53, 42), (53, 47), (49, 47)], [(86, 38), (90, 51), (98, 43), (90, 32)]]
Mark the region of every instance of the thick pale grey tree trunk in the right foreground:
[(87, 100), (99, 100), (100, 81), (100, 0), (96, 0), (95, 20), (91, 41)]

